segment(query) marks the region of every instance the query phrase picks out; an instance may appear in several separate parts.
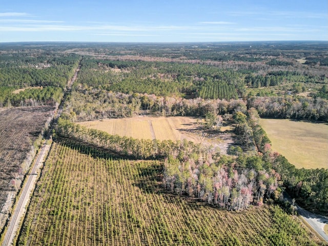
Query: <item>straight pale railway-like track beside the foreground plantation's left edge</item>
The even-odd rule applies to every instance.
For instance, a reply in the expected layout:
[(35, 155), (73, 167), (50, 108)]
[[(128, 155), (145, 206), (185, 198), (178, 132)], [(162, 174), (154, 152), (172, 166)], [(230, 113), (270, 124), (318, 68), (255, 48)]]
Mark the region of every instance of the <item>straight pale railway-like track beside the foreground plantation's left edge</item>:
[(39, 152), (37, 159), (34, 162), (32, 169), (30, 170), (30, 173), (28, 174), (27, 181), (19, 197), (18, 203), (16, 204), (16, 207), (12, 211), (12, 216), (9, 220), (8, 229), (6, 231), (4, 242), (2, 244), (3, 246), (12, 245), (12, 241), (15, 235), (17, 231), (20, 229), (19, 221), (20, 219), (24, 218), (24, 215), (26, 213), (26, 208), (29, 204), (30, 195), (35, 188), (35, 183), (38, 176), (37, 172), (39, 171), (40, 167), (43, 166), (45, 157), (47, 156), (49, 149), (50, 149), (50, 144), (45, 143), (41, 151)]

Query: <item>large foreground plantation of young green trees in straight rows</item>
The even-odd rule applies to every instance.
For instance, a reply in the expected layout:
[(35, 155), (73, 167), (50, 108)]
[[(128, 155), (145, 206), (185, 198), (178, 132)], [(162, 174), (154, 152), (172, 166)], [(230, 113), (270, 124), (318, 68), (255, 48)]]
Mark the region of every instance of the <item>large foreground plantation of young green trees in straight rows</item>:
[[(317, 245), (279, 207), (229, 212), (162, 190), (159, 161), (54, 142), (18, 245)], [(279, 243), (278, 243), (279, 242)]]

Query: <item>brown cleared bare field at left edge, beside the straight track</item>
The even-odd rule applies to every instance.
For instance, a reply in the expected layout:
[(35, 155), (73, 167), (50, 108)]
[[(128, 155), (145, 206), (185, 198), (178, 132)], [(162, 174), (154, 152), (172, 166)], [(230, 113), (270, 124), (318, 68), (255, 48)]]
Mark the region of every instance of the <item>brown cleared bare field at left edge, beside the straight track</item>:
[(35, 107), (0, 111), (0, 231), (16, 189), (29, 168), (27, 165), (34, 157), (31, 156), (32, 144), (50, 119), (52, 110)]

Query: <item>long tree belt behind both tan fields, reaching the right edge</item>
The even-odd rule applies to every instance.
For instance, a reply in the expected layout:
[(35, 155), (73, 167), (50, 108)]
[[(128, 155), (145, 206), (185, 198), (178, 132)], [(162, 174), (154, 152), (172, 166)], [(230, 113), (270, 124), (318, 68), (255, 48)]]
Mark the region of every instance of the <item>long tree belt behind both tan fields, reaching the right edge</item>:
[[(324, 88), (322, 91), (325, 90)], [(255, 108), (261, 117), (327, 120), (328, 103), (320, 97), (252, 96), (245, 103), (241, 99), (206, 100), (183, 99), (148, 94), (123, 94), (90, 87), (76, 86), (66, 102), (66, 113), (73, 120), (131, 117), (140, 114), (205, 117), (208, 112), (245, 113)]]

